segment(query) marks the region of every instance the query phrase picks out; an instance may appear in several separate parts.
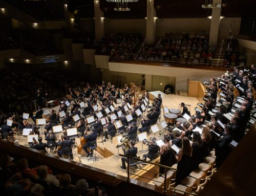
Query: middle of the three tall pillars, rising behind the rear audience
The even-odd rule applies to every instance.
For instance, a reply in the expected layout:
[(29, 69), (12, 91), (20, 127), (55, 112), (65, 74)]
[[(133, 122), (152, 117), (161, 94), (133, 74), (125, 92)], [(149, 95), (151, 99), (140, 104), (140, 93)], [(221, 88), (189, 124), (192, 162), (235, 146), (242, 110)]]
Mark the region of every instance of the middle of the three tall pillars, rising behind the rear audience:
[(146, 42), (153, 43), (156, 37), (156, 10), (154, 0), (147, 0), (146, 6)]

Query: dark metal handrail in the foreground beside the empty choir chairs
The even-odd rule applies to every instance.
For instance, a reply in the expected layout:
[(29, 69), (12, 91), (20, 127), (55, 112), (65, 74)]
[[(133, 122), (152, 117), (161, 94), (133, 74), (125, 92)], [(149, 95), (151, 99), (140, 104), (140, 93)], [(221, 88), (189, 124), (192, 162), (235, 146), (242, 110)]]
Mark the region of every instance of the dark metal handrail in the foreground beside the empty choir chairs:
[[(148, 163), (148, 164), (156, 165), (156, 166), (159, 166), (159, 167), (163, 167), (163, 168), (164, 168), (164, 188), (163, 188), (163, 192), (164, 192), (164, 193), (167, 192), (167, 191), (166, 191), (167, 170), (168, 170), (168, 169), (169, 169), (169, 170), (176, 170), (176, 168), (174, 168), (174, 167), (169, 167), (169, 166), (165, 166), (165, 165), (162, 165), (162, 164), (159, 164), (159, 163), (153, 163), (153, 162), (145, 161), (145, 160), (142, 160), (142, 159), (133, 158), (133, 157), (126, 156), (126, 155), (122, 155), (122, 154), (119, 154), (119, 156), (127, 158), (127, 179), (126, 179), (127, 182), (130, 182), (130, 181), (131, 181), (129, 175), (132, 174), (132, 173), (130, 173), (130, 168), (129, 168), (129, 167), (130, 167), (130, 159), (136, 160), (136, 161), (139, 161), (139, 162), (143, 162), (143, 163)], [(145, 169), (144, 169), (144, 170), (145, 170)], [(154, 171), (149, 171), (149, 172), (154, 172)], [(156, 172), (154, 172), (154, 173), (156, 173)], [(158, 173), (158, 174), (159, 174), (159, 173)], [(134, 176), (138, 176), (138, 175), (135, 175), (135, 174), (133, 174), (133, 175), (134, 175)], [(142, 177), (142, 176), (140, 176), (140, 177), (141, 177), (141, 178), (144, 178), (144, 179), (148, 179), (148, 178), (145, 178), (145, 177)], [(152, 179), (148, 179), (148, 180), (152, 180)], [(156, 181), (156, 180), (153, 180), (153, 181), (158, 182), (158, 181)], [(183, 190), (179, 190), (179, 189), (173, 188), (173, 187), (170, 187), (170, 188), (174, 190), (174, 193), (175, 193), (175, 191), (177, 190), (177, 191), (180, 191), (180, 192), (183, 192), (183, 193), (188, 193), (188, 194), (191, 194), (191, 195), (196, 195), (196, 196), (198, 195), (198, 194), (193, 193), (193, 192), (183, 191)]]

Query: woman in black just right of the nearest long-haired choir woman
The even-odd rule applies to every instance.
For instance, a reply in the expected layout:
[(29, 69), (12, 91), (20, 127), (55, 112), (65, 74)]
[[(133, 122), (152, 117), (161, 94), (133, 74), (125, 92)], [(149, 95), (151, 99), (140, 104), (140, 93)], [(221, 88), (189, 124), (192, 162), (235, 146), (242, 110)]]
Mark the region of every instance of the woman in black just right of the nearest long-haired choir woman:
[(192, 156), (190, 157), (190, 171), (198, 169), (198, 166), (203, 162), (203, 142), (199, 132), (193, 133)]

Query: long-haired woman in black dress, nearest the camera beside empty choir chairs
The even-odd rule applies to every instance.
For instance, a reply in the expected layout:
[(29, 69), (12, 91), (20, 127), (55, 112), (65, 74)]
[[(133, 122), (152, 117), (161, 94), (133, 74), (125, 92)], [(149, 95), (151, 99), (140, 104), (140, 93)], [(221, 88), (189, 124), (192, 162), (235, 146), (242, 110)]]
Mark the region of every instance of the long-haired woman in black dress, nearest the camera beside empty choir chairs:
[(178, 161), (176, 171), (176, 186), (189, 175), (189, 157), (191, 156), (192, 148), (187, 137), (182, 138), (182, 148), (179, 151), (179, 155), (175, 156)]

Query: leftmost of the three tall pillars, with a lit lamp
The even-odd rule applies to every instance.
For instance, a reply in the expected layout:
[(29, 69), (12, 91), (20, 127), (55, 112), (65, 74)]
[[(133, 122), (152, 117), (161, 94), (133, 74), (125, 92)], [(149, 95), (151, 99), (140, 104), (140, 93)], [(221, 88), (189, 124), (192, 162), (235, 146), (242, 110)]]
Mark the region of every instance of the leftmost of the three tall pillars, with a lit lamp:
[(104, 36), (104, 13), (100, 9), (99, 2), (94, 1), (95, 37), (100, 41)]

